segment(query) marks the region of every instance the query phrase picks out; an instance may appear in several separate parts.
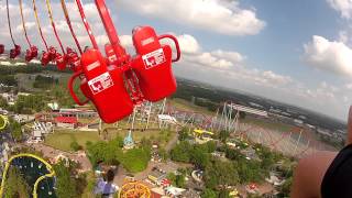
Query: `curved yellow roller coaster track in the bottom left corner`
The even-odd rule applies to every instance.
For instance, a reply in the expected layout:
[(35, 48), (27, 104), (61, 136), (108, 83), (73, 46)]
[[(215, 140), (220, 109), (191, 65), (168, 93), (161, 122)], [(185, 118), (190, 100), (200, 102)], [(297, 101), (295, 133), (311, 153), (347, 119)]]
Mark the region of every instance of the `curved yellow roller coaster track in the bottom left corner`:
[(11, 165), (11, 162), (15, 158), (19, 158), (19, 157), (32, 157), (32, 158), (35, 158), (40, 162), (42, 162), (47, 170), (50, 172), (48, 174), (46, 175), (43, 175), (41, 176), (40, 178), (36, 179), (36, 182), (34, 183), (34, 187), (33, 187), (33, 198), (37, 198), (37, 195), (36, 195), (36, 190), (37, 190), (37, 185), (43, 180), (45, 179), (46, 177), (54, 177), (55, 176), (55, 172), (52, 167), (52, 165), (50, 165), (45, 160), (36, 156), (36, 155), (33, 155), (33, 154), (19, 154), (19, 155), (13, 155), (9, 162), (7, 163), (6, 167), (4, 167), (4, 170), (3, 170), (3, 174), (2, 174), (2, 182), (1, 182), (1, 187), (0, 187), (0, 197), (3, 197), (3, 189), (4, 189), (4, 184), (6, 184), (6, 180), (7, 180), (7, 175), (8, 175), (8, 172), (9, 172), (9, 168), (10, 168), (10, 165)]

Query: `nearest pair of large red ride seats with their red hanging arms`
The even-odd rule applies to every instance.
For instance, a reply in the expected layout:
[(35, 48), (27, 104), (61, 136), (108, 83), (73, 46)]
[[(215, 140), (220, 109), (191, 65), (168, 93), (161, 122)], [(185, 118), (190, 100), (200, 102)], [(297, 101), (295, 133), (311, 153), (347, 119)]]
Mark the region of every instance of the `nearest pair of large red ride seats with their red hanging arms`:
[[(68, 88), (78, 105), (89, 100), (96, 106), (100, 118), (107, 123), (117, 122), (133, 112), (133, 107), (139, 100), (134, 100), (134, 90), (140, 88), (143, 99), (158, 101), (176, 90), (176, 80), (172, 74), (172, 63), (180, 58), (178, 42), (173, 35), (157, 36), (151, 26), (138, 26), (133, 30), (133, 43), (138, 54), (131, 56), (120, 44), (116, 28), (103, 0), (96, 0), (96, 7), (108, 34), (112, 52), (117, 59), (109, 63), (99, 52), (95, 37), (90, 31), (88, 21), (79, 0), (76, 0), (86, 30), (92, 42), (94, 48), (88, 48), (81, 56), (81, 69), (70, 78)], [(170, 38), (175, 42), (177, 57), (172, 57), (172, 47), (162, 45), (160, 40)], [(145, 42), (145, 43), (143, 43)], [(109, 51), (110, 52), (110, 51)], [(130, 75), (130, 74), (133, 75)], [(84, 78), (81, 77), (84, 76)], [(130, 76), (134, 89), (124, 87), (124, 76)], [(78, 100), (74, 92), (74, 80), (80, 77), (80, 89), (86, 96), (84, 102)], [(138, 80), (136, 80), (138, 79)], [(132, 95), (131, 95), (132, 94)]]

